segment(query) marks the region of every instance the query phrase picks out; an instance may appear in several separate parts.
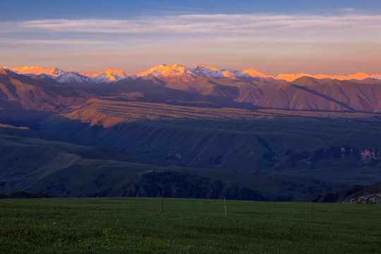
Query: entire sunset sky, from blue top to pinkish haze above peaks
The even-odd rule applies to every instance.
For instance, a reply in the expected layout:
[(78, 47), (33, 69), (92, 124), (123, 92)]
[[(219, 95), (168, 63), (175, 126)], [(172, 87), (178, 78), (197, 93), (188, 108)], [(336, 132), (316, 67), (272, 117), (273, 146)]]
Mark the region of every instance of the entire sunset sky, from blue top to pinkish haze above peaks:
[(0, 66), (381, 73), (381, 1), (4, 1)]

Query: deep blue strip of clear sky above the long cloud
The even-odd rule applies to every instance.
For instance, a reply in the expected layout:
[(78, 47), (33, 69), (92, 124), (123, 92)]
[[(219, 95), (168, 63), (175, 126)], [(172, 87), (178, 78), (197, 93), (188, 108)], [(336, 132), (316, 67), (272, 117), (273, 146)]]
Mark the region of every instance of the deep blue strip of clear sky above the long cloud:
[(377, 0), (134, 0), (134, 1), (4, 1), (0, 20), (28, 20), (41, 18), (128, 18), (136, 16), (162, 16), (166, 14), (200, 13), (334, 13), (353, 8), (380, 13)]

